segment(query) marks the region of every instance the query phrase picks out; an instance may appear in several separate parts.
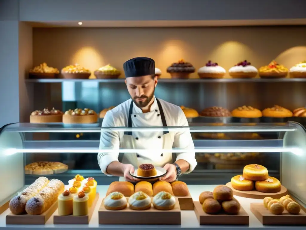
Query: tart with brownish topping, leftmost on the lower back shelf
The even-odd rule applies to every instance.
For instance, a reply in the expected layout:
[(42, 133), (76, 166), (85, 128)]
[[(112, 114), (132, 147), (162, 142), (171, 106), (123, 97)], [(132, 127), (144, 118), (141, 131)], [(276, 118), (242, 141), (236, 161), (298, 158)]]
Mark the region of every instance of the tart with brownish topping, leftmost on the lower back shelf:
[(30, 115), (30, 123), (58, 123), (62, 122), (63, 113), (58, 109), (35, 110)]

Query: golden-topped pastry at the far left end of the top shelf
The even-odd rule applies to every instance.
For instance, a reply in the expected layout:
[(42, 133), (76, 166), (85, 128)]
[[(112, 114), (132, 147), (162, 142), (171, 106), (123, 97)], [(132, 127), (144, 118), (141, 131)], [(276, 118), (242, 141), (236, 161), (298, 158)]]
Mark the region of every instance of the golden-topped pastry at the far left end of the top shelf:
[(42, 63), (35, 66), (29, 71), (29, 78), (44, 79), (44, 78), (57, 78), (59, 71), (57, 68), (47, 66), (47, 63)]

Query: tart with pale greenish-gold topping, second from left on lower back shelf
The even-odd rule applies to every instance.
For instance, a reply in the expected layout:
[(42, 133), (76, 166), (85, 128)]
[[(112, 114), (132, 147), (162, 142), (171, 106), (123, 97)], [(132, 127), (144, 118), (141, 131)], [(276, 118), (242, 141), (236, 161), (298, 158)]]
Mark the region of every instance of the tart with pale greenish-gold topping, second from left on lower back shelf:
[(92, 109), (69, 109), (63, 115), (63, 123), (66, 124), (96, 123), (97, 121), (98, 115)]

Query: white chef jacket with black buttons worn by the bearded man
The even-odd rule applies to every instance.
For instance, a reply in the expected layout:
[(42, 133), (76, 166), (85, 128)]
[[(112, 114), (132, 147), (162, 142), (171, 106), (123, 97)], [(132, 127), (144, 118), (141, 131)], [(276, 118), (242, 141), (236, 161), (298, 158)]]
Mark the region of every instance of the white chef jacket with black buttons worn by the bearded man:
[[(159, 99), (162, 109), (164, 111), (165, 119), (167, 126), (188, 126), (188, 121), (183, 110), (174, 104), (166, 102), (164, 100)], [(132, 99), (129, 99), (114, 109), (109, 110), (102, 122), (102, 127), (127, 127), (128, 126), (128, 116), (129, 116), (129, 107), (132, 102)], [(158, 109), (158, 104), (156, 98), (154, 96), (154, 102), (151, 105), (151, 111)], [(156, 114), (150, 115), (150, 117), (146, 117), (143, 119), (142, 115), (145, 114), (142, 110), (133, 103), (133, 113), (131, 114), (132, 118), (132, 127), (159, 127), (162, 126), (162, 120), (160, 117), (156, 116)], [(136, 116), (134, 116), (136, 115)], [(133, 136), (135, 136), (136, 132), (132, 132)], [(171, 140), (173, 142), (173, 148), (186, 148), (186, 149), (194, 149), (193, 140), (189, 130), (171, 131)], [(137, 132), (136, 136), (161, 136), (163, 132)], [(119, 149), (122, 145), (124, 132), (116, 131), (115, 129), (112, 131), (103, 131), (101, 132), (100, 138), (100, 149), (103, 148), (111, 148), (111, 149)], [(107, 152), (100, 152), (98, 153), (98, 163), (101, 168), (101, 171), (108, 175), (106, 172), (107, 166), (113, 162), (118, 161), (119, 153), (107, 153)], [(197, 165), (195, 159), (195, 152), (186, 152), (186, 153), (178, 153), (176, 160), (183, 159), (187, 161), (190, 165), (188, 171), (185, 173), (190, 173), (194, 170)], [(153, 162), (154, 164), (154, 162)]]

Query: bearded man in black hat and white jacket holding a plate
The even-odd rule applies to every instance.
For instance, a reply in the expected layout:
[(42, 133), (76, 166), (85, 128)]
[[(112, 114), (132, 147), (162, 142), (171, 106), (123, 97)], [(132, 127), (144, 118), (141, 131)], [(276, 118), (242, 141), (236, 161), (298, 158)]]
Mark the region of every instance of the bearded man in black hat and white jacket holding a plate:
[[(125, 84), (131, 99), (109, 110), (102, 127), (188, 126), (182, 109), (154, 96), (157, 86), (155, 62), (151, 58), (137, 57), (123, 64)], [(188, 128), (177, 131), (121, 132), (116, 129), (101, 132), (100, 149), (148, 149), (141, 153), (98, 154), (101, 171), (108, 176), (119, 176), (119, 181), (137, 182), (133, 173), (140, 164), (150, 163), (163, 167), (167, 173), (161, 180), (172, 182), (182, 173), (190, 173), (196, 167), (194, 144)], [(188, 149), (189, 152), (150, 152), (150, 149)]]

